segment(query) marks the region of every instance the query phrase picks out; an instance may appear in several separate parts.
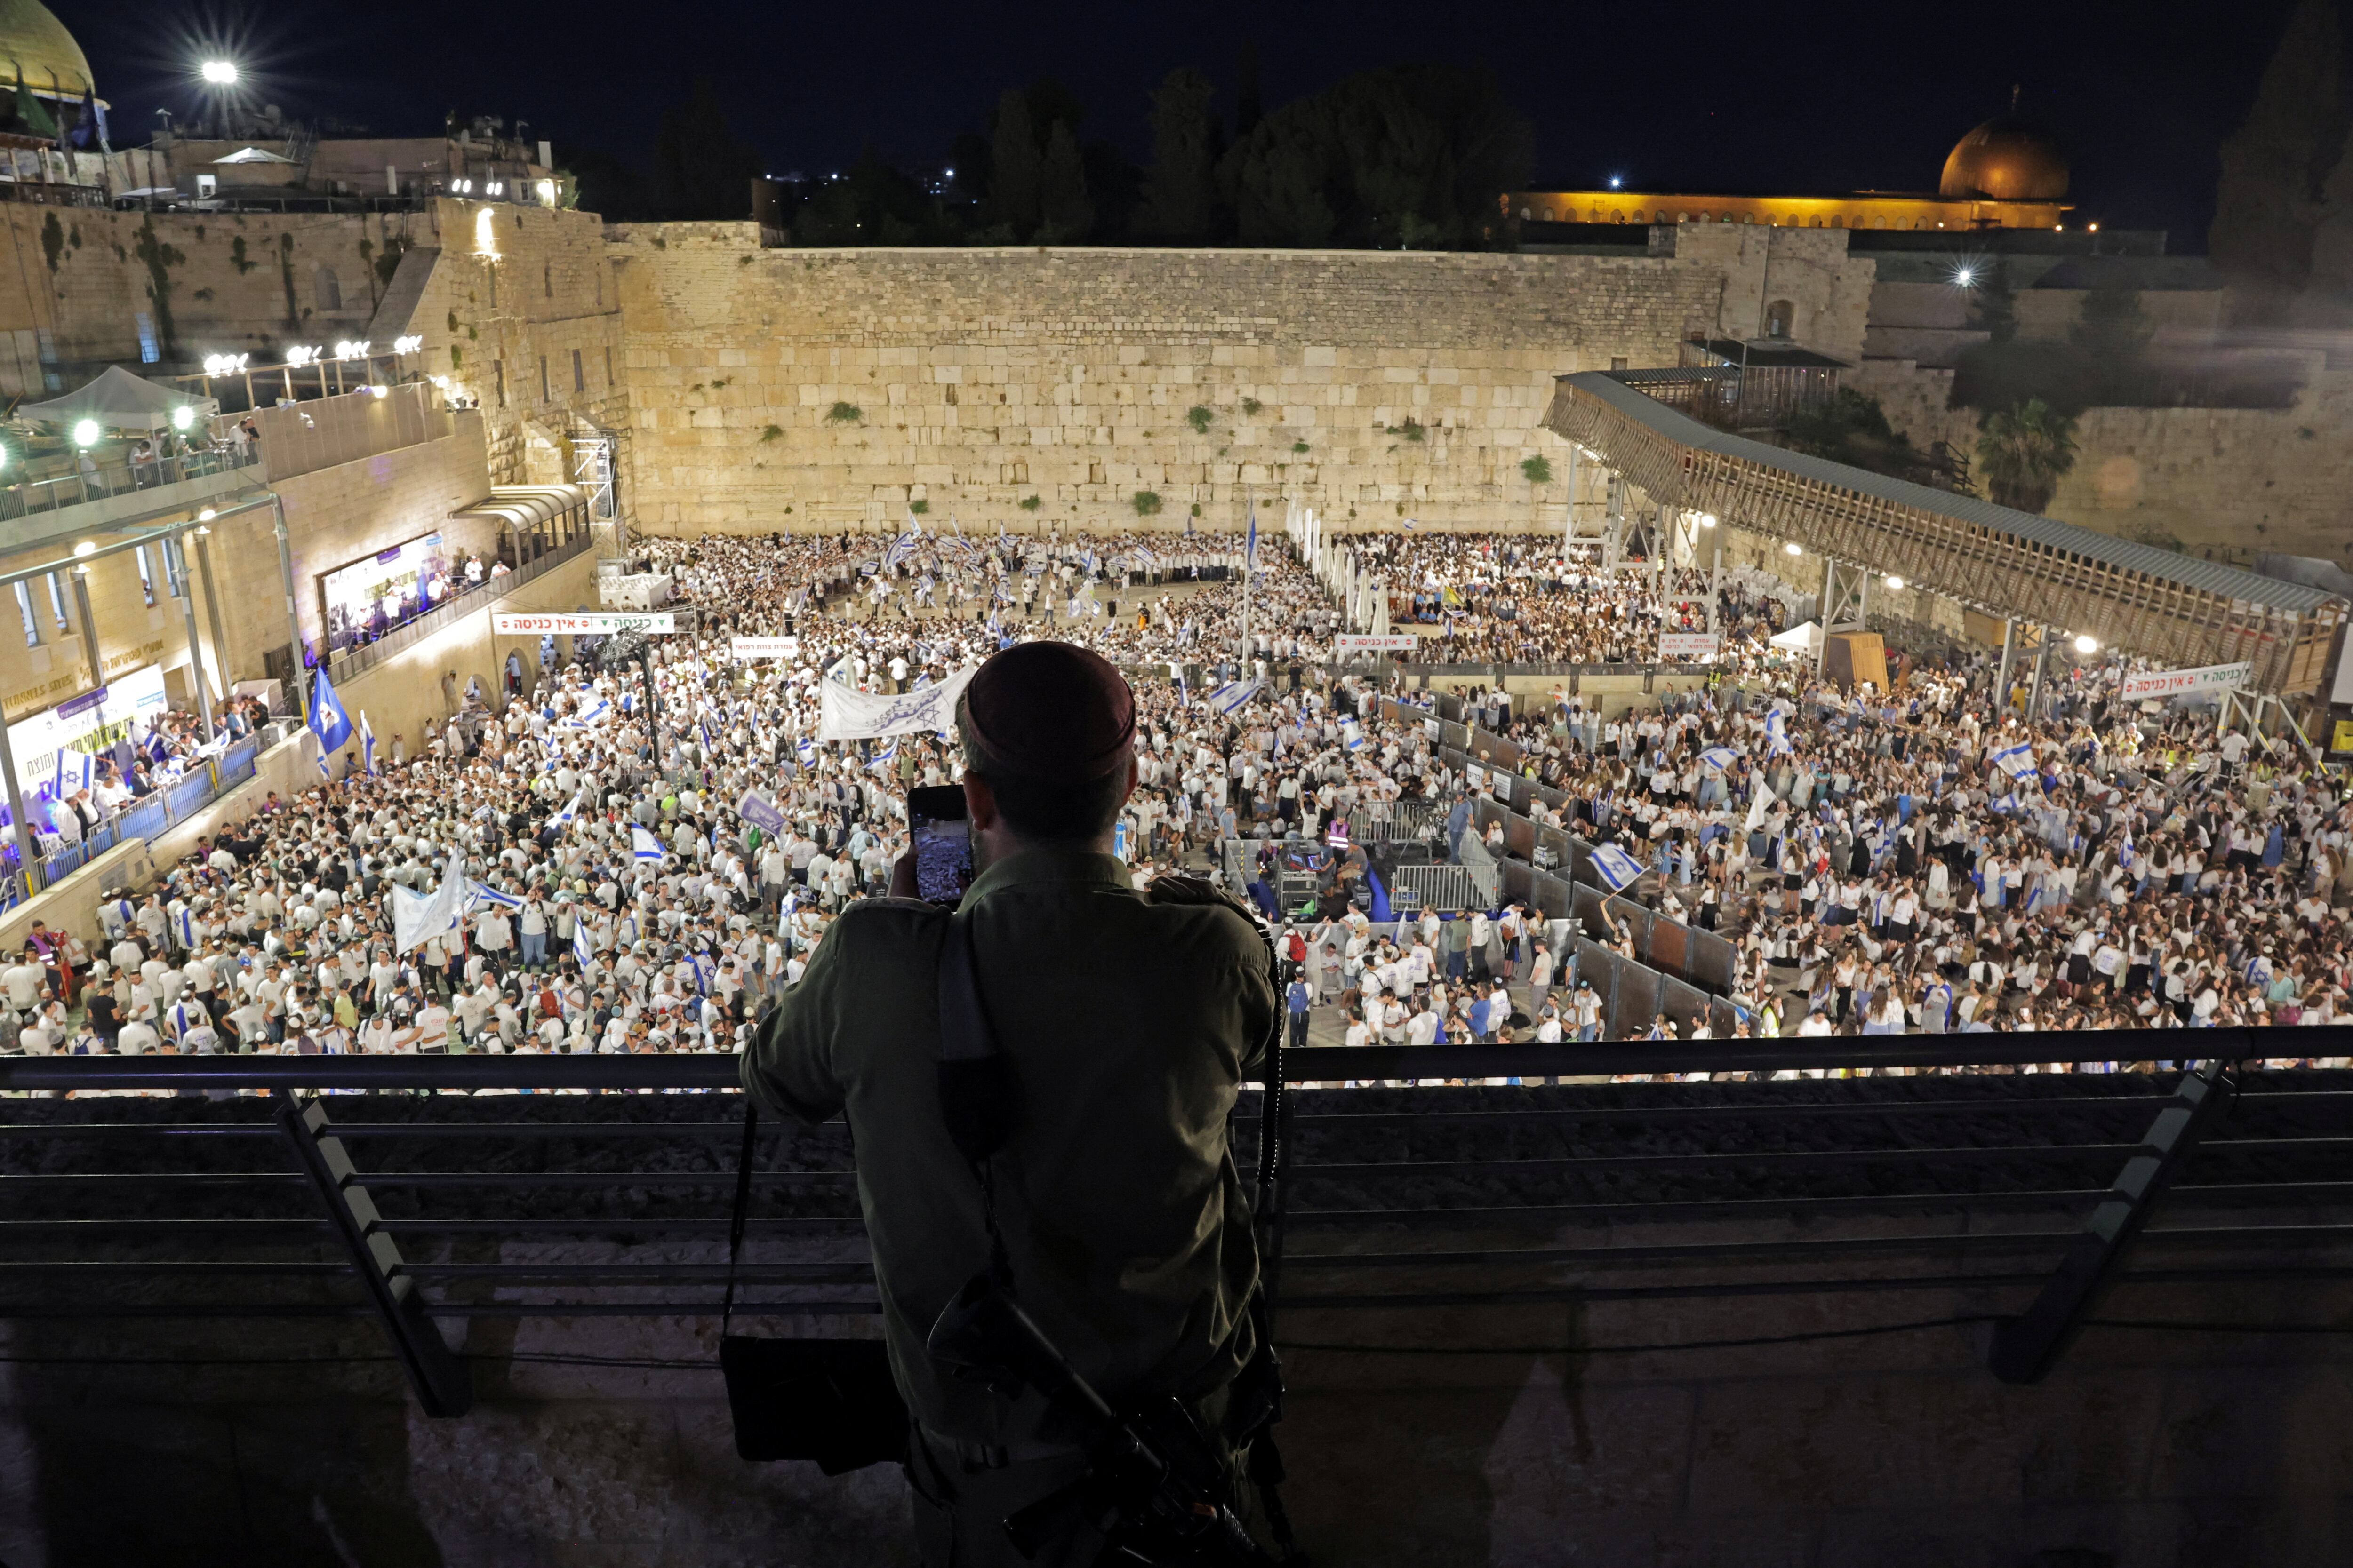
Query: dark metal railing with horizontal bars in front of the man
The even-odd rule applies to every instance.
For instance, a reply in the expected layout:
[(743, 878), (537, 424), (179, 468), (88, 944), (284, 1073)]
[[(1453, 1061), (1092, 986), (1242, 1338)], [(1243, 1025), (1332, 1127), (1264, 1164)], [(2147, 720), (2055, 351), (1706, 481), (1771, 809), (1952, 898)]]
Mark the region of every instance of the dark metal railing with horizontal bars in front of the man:
[[(2299, 1034), (2353, 1051), (2353, 1027)], [(1984, 1070), (2125, 1039), (2202, 1060), (1901, 1088), (1591, 1081)], [(1995, 1375), (2033, 1380), (2108, 1288), (2275, 1295), (2353, 1276), (2311, 1267), (2346, 1229), (2353, 1074), (2224, 1070), (2266, 1044), (2198, 1030), (1294, 1051), (1285, 1077), (1311, 1088), (1282, 1112), (1282, 1305), (1967, 1291), (2007, 1319)], [(1537, 1074), (1581, 1084), (1428, 1086)], [(1362, 1086), (1313, 1088), (1337, 1081)], [(736, 1084), (734, 1056), (0, 1058), (0, 1093), (165, 1093), (0, 1100), (0, 1319), (374, 1314), (426, 1410), (461, 1413), (468, 1373), (435, 1319), (718, 1316)], [(501, 1088), (525, 1093), (482, 1098)], [(1245, 1168), (1259, 1110), (1245, 1091)], [(845, 1126), (762, 1119), (751, 1171), (736, 1316), (875, 1314)], [(2167, 1204), (2195, 1213), (2153, 1227), (2167, 1182)], [(1668, 1229), (1628, 1234), (1642, 1222)], [(2155, 1267), (2127, 1248), (2155, 1248)]]

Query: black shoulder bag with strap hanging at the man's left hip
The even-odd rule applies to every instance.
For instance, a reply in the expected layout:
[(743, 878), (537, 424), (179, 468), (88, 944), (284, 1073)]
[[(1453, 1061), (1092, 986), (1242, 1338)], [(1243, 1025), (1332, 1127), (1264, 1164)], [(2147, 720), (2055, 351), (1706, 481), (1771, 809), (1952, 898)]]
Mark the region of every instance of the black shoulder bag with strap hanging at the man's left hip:
[(736, 1157), (734, 1213), (727, 1220), (727, 1298), (720, 1307), (720, 1373), (734, 1415), (736, 1455), (812, 1460), (828, 1476), (906, 1460), (906, 1403), (889, 1375), (882, 1340), (760, 1340), (727, 1333), (734, 1321), (736, 1260), (751, 1213), (751, 1150), (760, 1107), (744, 1095), (744, 1152)]

